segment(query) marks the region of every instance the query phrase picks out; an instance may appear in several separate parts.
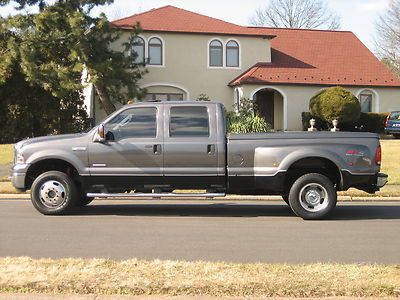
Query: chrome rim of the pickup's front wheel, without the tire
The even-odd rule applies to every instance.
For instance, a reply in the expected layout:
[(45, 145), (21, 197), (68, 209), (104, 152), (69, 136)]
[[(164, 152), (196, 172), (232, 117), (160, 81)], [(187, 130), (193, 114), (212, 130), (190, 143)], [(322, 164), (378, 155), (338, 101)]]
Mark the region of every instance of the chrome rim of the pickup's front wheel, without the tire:
[(39, 189), (40, 201), (48, 208), (62, 206), (67, 196), (66, 188), (56, 180), (46, 181)]

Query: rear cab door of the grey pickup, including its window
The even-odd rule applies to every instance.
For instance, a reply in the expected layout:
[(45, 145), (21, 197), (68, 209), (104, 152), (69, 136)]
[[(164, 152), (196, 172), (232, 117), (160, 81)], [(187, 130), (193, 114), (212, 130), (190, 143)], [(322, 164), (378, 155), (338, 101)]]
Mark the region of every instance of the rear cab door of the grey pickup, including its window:
[(164, 114), (166, 182), (182, 188), (212, 184), (218, 175), (215, 105), (166, 103)]

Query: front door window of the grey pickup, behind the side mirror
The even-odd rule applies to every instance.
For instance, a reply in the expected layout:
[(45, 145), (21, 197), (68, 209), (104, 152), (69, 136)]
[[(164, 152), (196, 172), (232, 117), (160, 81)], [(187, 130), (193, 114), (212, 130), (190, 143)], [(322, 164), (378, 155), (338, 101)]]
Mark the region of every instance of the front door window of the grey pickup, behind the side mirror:
[(106, 133), (115, 140), (154, 138), (157, 136), (157, 108), (135, 107), (115, 116), (105, 125)]

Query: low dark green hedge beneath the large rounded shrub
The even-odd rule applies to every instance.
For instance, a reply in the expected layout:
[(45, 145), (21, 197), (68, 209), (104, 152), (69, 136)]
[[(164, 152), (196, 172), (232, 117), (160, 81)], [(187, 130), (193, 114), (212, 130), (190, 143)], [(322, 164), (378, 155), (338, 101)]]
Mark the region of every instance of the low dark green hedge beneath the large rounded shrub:
[[(387, 115), (387, 113), (361, 113), (360, 119), (357, 122), (353, 124), (339, 123), (338, 127), (341, 131), (362, 131), (382, 134), (385, 131)], [(315, 119), (315, 127), (318, 130), (328, 130), (333, 127), (332, 123), (325, 122), (318, 117), (313, 117), (309, 112), (303, 112), (301, 120), (304, 131), (307, 131), (310, 127), (310, 120), (312, 118)]]

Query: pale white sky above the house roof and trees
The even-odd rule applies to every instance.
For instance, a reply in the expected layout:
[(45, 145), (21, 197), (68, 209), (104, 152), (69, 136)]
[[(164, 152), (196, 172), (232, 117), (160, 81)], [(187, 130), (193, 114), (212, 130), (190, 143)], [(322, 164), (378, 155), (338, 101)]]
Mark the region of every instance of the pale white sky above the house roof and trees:
[[(342, 21), (342, 30), (353, 31), (372, 51), (375, 50), (375, 22), (390, 0), (328, 0), (330, 8)], [(174, 5), (239, 25), (249, 25), (249, 18), (268, 0), (115, 0), (114, 4), (96, 8), (109, 19), (117, 19), (164, 5)], [(12, 13), (12, 7), (0, 8), (1, 15)]]

